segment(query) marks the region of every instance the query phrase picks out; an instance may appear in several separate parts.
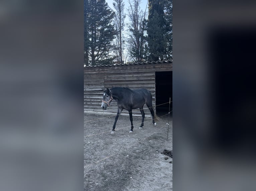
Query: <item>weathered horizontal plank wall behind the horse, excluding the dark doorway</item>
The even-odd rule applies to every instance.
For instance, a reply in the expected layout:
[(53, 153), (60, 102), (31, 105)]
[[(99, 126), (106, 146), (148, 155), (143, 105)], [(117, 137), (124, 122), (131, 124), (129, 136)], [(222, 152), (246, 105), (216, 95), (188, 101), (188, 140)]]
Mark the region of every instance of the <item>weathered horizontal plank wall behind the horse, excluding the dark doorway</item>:
[[(155, 72), (171, 71), (172, 64), (152, 64), (119, 67), (97, 67), (84, 69), (84, 112), (116, 115), (117, 102), (113, 100), (107, 110), (101, 109), (103, 98), (102, 88), (128, 87), (131, 89), (145, 88), (153, 96), (155, 105)], [(123, 115), (129, 115), (123, 110)], [(144, 105), (146, 117), (151, 117), (150, 111)], [(121, 114), (122, 114), (121, 113)], [(133, 110), (134, 116), (141, 116), (140, 111)]]

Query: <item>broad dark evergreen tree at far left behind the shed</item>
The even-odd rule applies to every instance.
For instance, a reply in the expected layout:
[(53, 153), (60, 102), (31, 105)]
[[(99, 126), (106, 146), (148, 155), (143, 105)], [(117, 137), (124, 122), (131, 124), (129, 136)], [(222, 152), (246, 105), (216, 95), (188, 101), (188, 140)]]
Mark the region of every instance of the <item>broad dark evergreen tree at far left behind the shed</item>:
[(114, 12), (109, 9), (105, 0), (86, 1), (88, 4), (85, 7), (85, 54), (88, 52), (91, 59), (88, 64), (96, 65), (112, 59), (108, 53), (113, 48), (111, 42), (116, 35), (112, 24)]

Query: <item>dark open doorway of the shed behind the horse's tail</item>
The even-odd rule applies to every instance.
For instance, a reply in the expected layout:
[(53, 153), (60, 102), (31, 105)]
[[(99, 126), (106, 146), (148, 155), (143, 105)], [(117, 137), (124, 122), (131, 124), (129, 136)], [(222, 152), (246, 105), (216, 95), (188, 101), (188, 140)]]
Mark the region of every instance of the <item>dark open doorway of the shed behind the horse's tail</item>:
[[(156, 106), (156, 114), (159, 117), (169, 112), (169, 103), (166, 102), (169, 102), (170, 98), (172, 101), (172, 71), (155, 72), (155, 100), (156, 105), (159, 105)], [(171, 110), (172, 102), (170, 103)], [(170, 116), (172, 116), (172, 112)]]

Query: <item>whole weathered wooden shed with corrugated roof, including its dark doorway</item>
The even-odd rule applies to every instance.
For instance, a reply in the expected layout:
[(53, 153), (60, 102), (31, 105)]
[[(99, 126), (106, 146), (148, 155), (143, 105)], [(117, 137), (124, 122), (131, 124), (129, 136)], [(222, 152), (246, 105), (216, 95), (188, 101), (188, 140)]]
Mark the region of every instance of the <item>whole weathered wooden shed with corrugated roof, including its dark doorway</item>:
[[(98, 65), (84, 67), (84, 113), (111, 114), (117, 113), (117, 102), (113, 100), (107, 110), (101, 109), (102, 88), (128, 87), (145, 88), (153, 96), (156, 111), (169, 108), (169, 97), (172, 99), (172, 61), (138, 62), (132, 64)], [(151, 114), (144, 105), (145, 116)], [(127, 112), (124, 110), (122, 113)], [(122, 115), (121, 113), (121, 115)], [(129, 115), (124, 114), (124, 115)], [(134, 116), (141, 116), (140, 111), (133, 111)]]

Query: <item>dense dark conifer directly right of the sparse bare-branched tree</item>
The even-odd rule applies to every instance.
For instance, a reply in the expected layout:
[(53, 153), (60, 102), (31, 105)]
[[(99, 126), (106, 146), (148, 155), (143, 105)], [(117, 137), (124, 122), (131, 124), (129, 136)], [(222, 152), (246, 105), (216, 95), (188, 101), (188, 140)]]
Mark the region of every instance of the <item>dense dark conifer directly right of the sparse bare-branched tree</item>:
[(166, 54), (165, 0), (148, 0), (147, 48), (148, 60), (163, 60)]

